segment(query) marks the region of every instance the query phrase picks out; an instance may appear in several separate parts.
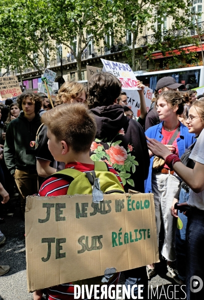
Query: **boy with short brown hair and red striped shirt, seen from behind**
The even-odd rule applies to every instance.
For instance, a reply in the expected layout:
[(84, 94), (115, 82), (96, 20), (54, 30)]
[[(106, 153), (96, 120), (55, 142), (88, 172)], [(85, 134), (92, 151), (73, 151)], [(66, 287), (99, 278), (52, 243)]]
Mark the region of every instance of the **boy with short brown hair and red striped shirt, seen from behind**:
[[(89, 149), (96, 134), (94, 115), (85, 105), (61, 104), (42, 115), (42, 122), (47, 126), (48, 148), (54, 159), (63, 161), (65, 168), (75, 168), (81, 172), (94, 170), (94, 162), (89, 156)], [(113, 167), (109, 171), (119, 178)], [(67, 194), (69, 182), (64, 178), (49, 177), (38, 192), (39, 196), (57, 196)], [(116, 284), (119, 273), (113, 275), (107, 285)], [(98, 278), (98, 277), (97, 277)], [(71, 282), (46, 288), (47, 299), (74, 299)], [(41, 299), (42, 291), (33, 293), (33, 299)]]

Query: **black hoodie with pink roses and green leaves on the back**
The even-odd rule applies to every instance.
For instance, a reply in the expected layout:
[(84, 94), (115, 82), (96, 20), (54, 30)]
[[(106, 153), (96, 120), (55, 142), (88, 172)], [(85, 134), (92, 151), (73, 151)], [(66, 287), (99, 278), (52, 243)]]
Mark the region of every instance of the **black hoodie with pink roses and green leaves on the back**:
[(91, 158), (112, 165), (122, 179), (125, 192), (129, 188), (144, 192), (149, 154), (141, 125), (126, 117), (118, 104), (92, 108), (91, 111), (97, 123)]

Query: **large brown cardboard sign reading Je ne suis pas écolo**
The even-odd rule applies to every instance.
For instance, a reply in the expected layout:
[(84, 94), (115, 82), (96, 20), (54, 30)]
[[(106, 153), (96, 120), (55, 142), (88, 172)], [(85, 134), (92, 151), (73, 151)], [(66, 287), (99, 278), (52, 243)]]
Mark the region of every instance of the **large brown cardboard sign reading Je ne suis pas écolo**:
[(156, 262), (153, 195), (28, 196), (25, 243), (28, 291)]

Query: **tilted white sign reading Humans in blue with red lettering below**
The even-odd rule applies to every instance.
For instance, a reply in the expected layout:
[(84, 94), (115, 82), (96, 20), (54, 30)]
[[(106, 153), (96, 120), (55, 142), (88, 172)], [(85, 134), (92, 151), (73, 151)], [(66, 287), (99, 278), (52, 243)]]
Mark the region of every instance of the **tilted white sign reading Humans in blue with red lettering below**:
[(102, 61), (104, 70), (112, 73), (120, 80), (122, 89), (140, 89), (137, 87), (136, 77), (128, 63), (121, 63), (102, 58), (100, 58), (100, 60)]

